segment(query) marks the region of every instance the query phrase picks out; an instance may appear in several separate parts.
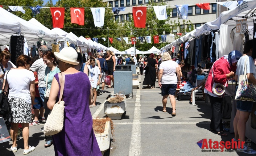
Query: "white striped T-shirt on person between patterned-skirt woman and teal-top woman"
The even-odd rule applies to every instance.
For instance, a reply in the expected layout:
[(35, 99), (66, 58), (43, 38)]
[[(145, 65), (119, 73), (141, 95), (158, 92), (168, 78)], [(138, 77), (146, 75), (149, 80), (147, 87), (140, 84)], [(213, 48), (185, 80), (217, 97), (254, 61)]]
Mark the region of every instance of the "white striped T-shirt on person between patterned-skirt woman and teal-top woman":
[(38, 74), (38, 87), (45, 87), (45, 68), (46, 68), (46, 64), (44, 64), (43, 58), (36, 60), (32, 66), (30, 67), (30, 69), (33, 72), (37, 72)]

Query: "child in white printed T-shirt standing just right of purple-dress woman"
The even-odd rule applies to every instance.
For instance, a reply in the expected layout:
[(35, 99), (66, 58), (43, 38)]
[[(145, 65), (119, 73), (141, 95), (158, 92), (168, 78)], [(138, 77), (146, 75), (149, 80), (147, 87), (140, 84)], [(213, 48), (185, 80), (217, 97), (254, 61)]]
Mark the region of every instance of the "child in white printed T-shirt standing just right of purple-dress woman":
[(93, 104), (90, 105), (90, 107), (95, 107), (96, 106), (96, 98), (97, 98), (97, 87), (100, 85), (100, 76), (101, 72), (99, 67), (95, 66), (95, 59), (93, 57), (90, 58), (90, 64), (87, 65), (89, 69), (88, 77), (91, 83), (92, 87), (92, 92), (94, 94), (94, 101)]

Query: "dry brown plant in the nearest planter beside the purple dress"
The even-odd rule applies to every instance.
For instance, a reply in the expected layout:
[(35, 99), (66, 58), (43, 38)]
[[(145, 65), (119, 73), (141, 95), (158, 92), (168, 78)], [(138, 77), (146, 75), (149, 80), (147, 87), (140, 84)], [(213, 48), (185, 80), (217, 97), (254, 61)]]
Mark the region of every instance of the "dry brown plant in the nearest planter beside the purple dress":
[(103, 133), (105, 130), (105, 124), (107, 121), (110, 121), (111, 123), (111, 134), (112, 134), (112, 138), (114, 136), (114, 125), (113, 122), (111, 120), (111, 118), (95, 118), (92, 119), (92, 128), (94, 130), (94, 133)]

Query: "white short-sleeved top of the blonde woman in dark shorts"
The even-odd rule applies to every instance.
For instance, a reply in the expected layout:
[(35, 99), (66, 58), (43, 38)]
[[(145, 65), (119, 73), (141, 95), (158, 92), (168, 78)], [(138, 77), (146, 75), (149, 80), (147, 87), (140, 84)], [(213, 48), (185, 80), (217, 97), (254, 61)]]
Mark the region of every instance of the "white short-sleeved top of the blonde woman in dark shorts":
[(166, 60), (160, 64), (159, 70), (163, 69), (161, 84), (177, 84), (177, 67), (178, 64), (173, 60)]

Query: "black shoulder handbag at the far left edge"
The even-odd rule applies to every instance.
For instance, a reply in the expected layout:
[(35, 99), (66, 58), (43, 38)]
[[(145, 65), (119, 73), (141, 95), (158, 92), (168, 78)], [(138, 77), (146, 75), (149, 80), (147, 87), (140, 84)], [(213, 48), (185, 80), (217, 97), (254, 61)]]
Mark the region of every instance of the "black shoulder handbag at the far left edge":
[(3, 92), (0, 93), (0, 115), (3, 115), (3, 116), (11, 113), (11, 106), (9, 105), (9, 101), (8, 101), (8, 92), (5, 91), (8, 72), (6, 73)]

